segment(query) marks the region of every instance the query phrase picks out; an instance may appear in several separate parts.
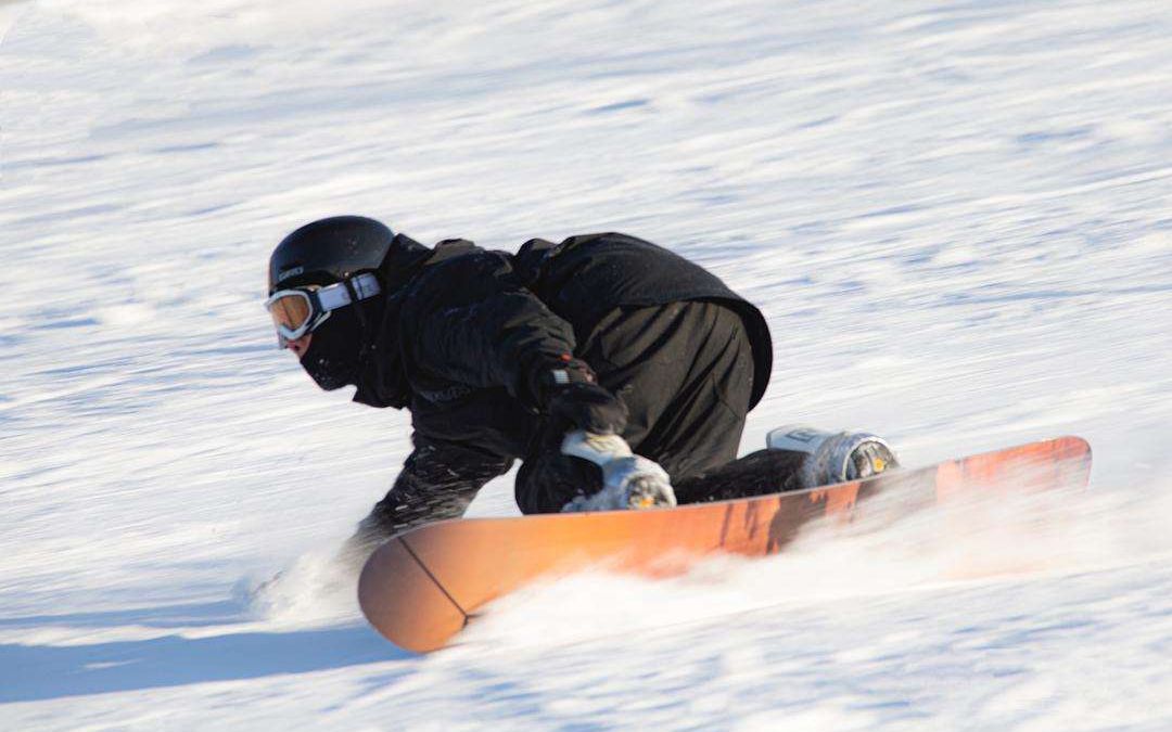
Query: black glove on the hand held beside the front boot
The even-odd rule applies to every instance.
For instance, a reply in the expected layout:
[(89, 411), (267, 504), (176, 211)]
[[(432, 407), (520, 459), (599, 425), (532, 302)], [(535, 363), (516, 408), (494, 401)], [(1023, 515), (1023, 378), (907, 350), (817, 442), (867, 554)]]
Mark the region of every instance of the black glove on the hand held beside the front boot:
[(627, 405), (599, 386), (584, 362), (574, 358), (545, 369), (539, 383), (546, 411), (568, 422), (570, 429), (621, 435), (627, 427)]

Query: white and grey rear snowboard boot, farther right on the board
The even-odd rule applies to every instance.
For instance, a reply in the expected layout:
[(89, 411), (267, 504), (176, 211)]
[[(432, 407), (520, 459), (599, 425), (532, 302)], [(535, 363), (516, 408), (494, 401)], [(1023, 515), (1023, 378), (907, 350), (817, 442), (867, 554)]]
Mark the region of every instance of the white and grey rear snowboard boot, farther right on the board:
[(825, 432), (804, 425), (769, 433), (770, 450), (805, 453), (802, 485), (806, 488), (863, 480), (899, 467), (891, 446), (870, 432)]

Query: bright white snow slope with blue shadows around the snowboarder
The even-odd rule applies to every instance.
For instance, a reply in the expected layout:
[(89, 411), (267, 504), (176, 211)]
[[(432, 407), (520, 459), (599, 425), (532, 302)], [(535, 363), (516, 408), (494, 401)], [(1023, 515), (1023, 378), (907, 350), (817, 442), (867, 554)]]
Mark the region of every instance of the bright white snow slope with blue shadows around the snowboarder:
[[(1164, 9), (0, 2), (4, 726), (1168, 728)], [(260, 307), (274, 242), (341, 212), (662, 242), (769, 317), (744, 450), (1077, 433), (1093, 491), (577, 577), (403, 654), (328, 557), (409, 419), (319, 392)]]

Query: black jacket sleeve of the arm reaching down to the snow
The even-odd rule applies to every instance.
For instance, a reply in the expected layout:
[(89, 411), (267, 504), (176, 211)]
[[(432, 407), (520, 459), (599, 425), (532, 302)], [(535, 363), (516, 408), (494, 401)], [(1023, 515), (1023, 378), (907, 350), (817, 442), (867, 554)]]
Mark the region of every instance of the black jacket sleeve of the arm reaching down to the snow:
[(381, 542), (422, 524), (458, 519), (484, 484), (511, 466), (511, 458), (416, 436), (395, 485), (359, 525), (359, 535)]

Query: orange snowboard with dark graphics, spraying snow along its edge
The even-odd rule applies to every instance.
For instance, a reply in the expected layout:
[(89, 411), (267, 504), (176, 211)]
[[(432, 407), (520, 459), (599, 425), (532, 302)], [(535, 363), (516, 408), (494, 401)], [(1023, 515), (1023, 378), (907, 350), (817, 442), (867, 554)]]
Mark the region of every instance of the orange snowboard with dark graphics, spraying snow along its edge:
[[(954, 497), (1084, 487), (1090, 445), (1062, 437), (865, 480), (649, 511), (456, 519), (391, 538), (367, 560), (359, 603), (415, 652), (443, 648), (492, 600), (538, 577), (604, 568), (662, 577), (717, 553), (782, 550), (806, 524), (850, 521), (890, 495), (906, 514)], [(872, 504), (874, 505), (874, 504)]]

